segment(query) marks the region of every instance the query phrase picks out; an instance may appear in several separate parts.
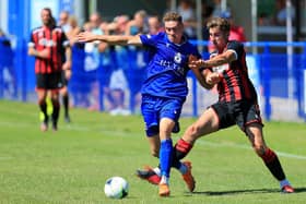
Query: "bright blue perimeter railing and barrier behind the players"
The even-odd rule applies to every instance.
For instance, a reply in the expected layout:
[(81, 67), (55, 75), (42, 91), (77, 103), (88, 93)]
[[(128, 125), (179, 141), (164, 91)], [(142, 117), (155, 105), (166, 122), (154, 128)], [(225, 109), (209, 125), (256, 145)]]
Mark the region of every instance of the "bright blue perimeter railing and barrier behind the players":
[[(191, 43), (203, 47), (209, 45), (208, 41), (192, 40)], [(10, 49), (0, 41), (0, 99), (36, 100), (34, 58), (27, 56), (26, 45), (25, 40), (17, 39), (15, 48)], [(287, 108), (295, 108), (290, 110), (294, 116), (289, 120), (305, 120), (306, 43), (259, 41), (245, 43), (245, 47), (248, 53), (247, 63), (250, 79), (260, 96), (263, 117), (267, 120), (286, 120), (286, 111), (284, 111), (283, 118), (274, 115)], [(286, 53), (287, 47), (292, 48), (292, 55)], [(250, 53), (249, 49), (257, 49), (257, 53)], [(127, 80), (126, 92), (129, 96), (125, 104), (128, 105), (131, 112), (137, 112), (139, 104), (136, 96), (143, 80), (145, 56), (142, 60), (142, 67), (139, 68), (137, 63), (139, 55), (136, 50), (130, 49), (129, 57), (123, 59), (121, 56), (114, 58), (117, 51), (114, 49), (114, 52), (107, 57), (102, 53), (99, 60), (103, 62), (114, 62), (115, 60), (117, 67), (123, 69)], [(91, 98), (95, 98), (98, 103), (98, 109), (105, 111), (110, 106), (107, 100), (107, 84), (114, 68), (99, 65), (96, 70), (86, 72), (84, 63), (87, 55), (83, 49), (73, 48), (73, 74), (69, 83), (73, 105), (87, 107), (91, 106)], [(202, 56), (208, 59), (209, 53), (203, 51)], [(186, 116), (197, 117), (205, 106), (210, 105), (211, 93), (202, 91), (192, 74), (189, 74), (188, 77), (191, 80), (191, 94), (187, 99), (184, 112)], [(215, 94), (212, 95), (212, 97), (216, 97)]]

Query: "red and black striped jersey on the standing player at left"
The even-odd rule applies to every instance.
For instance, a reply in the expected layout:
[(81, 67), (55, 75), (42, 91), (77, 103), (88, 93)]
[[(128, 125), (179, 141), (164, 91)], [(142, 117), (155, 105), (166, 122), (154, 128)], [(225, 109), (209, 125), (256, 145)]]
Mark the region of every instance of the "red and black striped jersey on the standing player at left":
[(69, 46), (69, 40), (60, 27), (49, 28), (40, 26), (33, 29), (28, 47), (34, 47), (37, 51), (48, 49), (49, 52), (47, 59), (36, 57), (35, 73), (61, 72), (62, 56), (67, 46)]

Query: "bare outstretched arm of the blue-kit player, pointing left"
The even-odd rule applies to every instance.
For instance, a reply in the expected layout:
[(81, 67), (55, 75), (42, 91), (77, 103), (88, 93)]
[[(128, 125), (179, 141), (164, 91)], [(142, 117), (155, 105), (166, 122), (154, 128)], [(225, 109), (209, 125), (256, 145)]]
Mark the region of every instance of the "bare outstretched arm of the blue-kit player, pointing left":
[(78, 40), (82, 43), (99, 40), (109, 45), (142, 45), (140, 36), (138, 35), (96, 35), (90, 32), (82, 32), (76, 37)]

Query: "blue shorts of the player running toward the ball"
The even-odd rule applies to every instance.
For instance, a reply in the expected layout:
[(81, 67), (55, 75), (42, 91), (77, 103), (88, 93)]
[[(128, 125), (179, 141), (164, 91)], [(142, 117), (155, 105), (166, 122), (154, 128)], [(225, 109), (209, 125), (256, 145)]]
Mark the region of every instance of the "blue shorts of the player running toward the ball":
[(169, 118), (175, 121), (173, 132), (179, 132), (178, 119), (185, 99), (142, 96), (141, 112), (145, 123), (146, 136), (154, 136), (160, 132), (160, 120)]

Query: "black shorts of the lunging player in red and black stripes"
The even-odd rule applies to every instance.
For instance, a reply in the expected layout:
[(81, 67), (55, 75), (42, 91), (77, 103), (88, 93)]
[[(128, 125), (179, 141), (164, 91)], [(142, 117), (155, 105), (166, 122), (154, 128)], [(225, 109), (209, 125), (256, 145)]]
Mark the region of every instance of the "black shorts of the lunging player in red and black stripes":
[(211, 107), (219, 117), (219, 129), (225, 129), (237, 124), (245, 131), (245, 127), (250, 123), (259, 123), (263, 127), (257, 103), (238, 100), (232, 103), (216, 103)]

